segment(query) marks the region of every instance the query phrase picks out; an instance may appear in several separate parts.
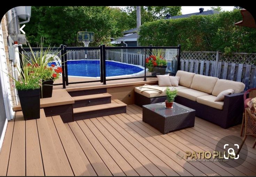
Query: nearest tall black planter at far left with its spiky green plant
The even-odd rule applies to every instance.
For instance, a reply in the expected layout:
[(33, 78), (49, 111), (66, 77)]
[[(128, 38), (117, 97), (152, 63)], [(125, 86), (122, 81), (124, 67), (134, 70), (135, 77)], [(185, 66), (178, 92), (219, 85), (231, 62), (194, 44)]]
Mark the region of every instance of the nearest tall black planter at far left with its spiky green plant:
[(18, 79), (15, 79), (15, 87), (18, 91), (21, 109), (25, 120), (40, 118), (40, 86), (41, 80), (37, 77), (37, 71), (29, 69), (29, 61), (21, 60), (21, 66), (17, 65), (19, 73)]

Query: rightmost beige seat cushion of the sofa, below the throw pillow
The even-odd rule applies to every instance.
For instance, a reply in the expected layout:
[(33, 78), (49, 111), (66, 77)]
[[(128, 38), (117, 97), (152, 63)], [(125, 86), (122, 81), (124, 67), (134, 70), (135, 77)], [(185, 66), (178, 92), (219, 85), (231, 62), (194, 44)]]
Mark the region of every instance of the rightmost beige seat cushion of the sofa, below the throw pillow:
[(196, 98), (196, 102), (204, 104), (206, 106), (216, 108), (216, 109), (223, 109), (224, 102), (223, 101), (214, 101), (217, 96), (214, 95), (207, 95), (207, 96), (200, 96)]

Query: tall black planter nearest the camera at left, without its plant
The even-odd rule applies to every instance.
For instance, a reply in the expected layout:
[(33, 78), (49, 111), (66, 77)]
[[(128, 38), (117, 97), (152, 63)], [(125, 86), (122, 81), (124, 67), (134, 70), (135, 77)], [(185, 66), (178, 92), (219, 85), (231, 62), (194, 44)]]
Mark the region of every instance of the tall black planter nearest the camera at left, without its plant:
[(25, 120), (40, 118), (40, 89), (18, 90), (21, 109)]

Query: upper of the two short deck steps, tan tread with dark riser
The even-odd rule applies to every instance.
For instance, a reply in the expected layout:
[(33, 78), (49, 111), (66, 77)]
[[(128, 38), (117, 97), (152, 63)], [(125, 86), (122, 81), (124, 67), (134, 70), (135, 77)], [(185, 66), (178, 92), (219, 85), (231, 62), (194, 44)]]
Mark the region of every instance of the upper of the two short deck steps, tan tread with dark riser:
[(95, 106), (99, 104), (111, 103), (111, 96), (109, 93), (99, 93), (92, 95), (73, 96), (75, 104), (73, 108)]

